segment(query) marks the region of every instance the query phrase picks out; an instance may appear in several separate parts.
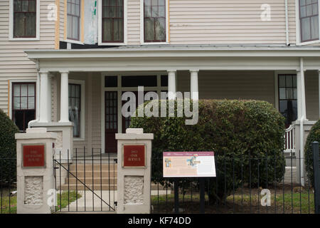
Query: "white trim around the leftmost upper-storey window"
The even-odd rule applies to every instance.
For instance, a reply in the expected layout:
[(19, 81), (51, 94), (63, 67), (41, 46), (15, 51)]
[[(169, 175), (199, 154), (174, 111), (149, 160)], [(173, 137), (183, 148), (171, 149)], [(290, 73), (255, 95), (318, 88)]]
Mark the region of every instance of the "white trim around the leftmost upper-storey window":
[(39, 41), (40, 40), (40, 0), (37, 1), (36, 38), (14, 38), (14, 0), (9, 3), (9, 41)]

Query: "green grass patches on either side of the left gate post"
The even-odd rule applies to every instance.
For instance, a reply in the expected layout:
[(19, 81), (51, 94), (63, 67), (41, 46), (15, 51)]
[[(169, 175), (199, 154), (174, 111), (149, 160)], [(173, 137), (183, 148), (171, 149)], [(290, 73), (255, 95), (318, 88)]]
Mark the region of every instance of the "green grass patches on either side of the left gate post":
[[(68, 206), (68, 192), (63, 192), (62, 197), (60, 197), (60, 194), (57, 195), (57, 204), (58, 206), (55, 207), (56, 211), (60, 210), (60, 208), (64, 208)], [(60, 198), (61, 198), (61, 204), (60, 204)], [(78, 193), (78, 199), (81, 198), (81, 195)], [(70, 192), (70, 198), (69, 203), (75, 201), (76, 195), (75, 191)], [(9, 207), (10, 205), (10, 207)], [(0, 199), (0, 214), (16, 214), (16, 196), (13, 197), (2, 197), (2, 200)]]

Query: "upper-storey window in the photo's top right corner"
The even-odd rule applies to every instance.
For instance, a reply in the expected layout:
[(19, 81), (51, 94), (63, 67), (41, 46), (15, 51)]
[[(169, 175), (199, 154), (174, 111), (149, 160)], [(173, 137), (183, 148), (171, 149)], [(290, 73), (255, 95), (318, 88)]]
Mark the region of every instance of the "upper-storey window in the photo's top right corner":
[(319, 39), (318, 0), (299, 0), (301, 41)]

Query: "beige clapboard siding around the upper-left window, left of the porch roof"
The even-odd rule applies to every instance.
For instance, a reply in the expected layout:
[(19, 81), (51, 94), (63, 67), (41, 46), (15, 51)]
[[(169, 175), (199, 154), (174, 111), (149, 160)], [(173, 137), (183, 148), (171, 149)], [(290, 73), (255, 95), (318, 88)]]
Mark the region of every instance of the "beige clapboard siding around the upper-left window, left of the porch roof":
[(36, 65), (28, 60), (25, 49), (54, 48), (55, 21), (48, 21), (48, 4), (40, 1), (40, 41), (9, 41), (9, 0), (0, 1), (0, 108), (8, 113), (9, 80), (36, 80)]

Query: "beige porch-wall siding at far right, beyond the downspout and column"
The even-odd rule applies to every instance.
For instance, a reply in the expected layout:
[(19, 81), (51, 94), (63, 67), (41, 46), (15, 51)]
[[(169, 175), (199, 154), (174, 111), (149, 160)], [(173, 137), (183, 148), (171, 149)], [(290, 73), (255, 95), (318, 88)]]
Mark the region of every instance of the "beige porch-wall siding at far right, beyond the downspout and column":
[(306, 71), (306, 118), (308, 120), (319, 120), (319, 73)]

